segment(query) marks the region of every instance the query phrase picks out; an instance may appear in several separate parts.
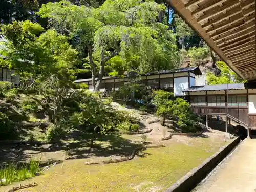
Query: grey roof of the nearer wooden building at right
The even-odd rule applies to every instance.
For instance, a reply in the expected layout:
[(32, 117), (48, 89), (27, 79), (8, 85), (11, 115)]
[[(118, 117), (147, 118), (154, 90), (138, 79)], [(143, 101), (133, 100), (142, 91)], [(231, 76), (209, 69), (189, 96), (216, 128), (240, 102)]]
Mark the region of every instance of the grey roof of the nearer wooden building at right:
[(193, 86), (189, 89), (184, 89), (183, 92), (188, 91), (216, 91), (216, 90), (236, 90), (236, 89), (255, 89), (256, 83), (233, 83), (233, 84), (214, 84), (206, 86)]

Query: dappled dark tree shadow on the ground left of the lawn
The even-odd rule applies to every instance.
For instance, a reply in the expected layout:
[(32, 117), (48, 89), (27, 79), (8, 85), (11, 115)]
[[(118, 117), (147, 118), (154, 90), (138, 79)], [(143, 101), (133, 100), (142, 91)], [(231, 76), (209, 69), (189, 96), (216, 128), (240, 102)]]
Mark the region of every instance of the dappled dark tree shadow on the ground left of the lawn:
[[(83, 139), (73, 140), (72, 142), (59, 142), (55, 144), (35, 145), (35, 144), (19, 144), (19, 145), (0, 145), (0, 162), (25, 162), (30, 159), (31, 156), (43, 154), (44, 152), (61, 151), (66, 154), (67, 159), (88, 159), (96, 157), (124, 157), (132, 154), (133, 150), (137, 147), (142, 147), (141, 143), (135, 143), (129, 139), (121, 137), (119, 134), (111, 134), (105, 136), (97, 136), (93, 148), (90, 148), (90, 140), (93, 135), (85, 135)], [(146, 154), (142, 154), (145, 148), (139, 150), (138, 154), (144, 157)], [(62, 154), (62, 153), (61, 153)], [(148, 154), (149, 155), (149, 154)], [(54, 155), (48, 154), (50, 158)], [(54, 156), (55, 158), (56, 156)], [(64, 157), (59, 156), (57, 159), (48, 159), (41, 161), (41, 163), (49, 164), (50, 161), (63, 160)]]

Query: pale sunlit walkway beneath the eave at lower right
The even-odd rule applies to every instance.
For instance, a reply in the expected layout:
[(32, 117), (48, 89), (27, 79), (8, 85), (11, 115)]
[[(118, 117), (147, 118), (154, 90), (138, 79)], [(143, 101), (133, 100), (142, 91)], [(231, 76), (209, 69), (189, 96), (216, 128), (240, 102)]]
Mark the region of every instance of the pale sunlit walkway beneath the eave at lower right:
[(245, 139), (193, 191), (256, 191), (256, 139)]

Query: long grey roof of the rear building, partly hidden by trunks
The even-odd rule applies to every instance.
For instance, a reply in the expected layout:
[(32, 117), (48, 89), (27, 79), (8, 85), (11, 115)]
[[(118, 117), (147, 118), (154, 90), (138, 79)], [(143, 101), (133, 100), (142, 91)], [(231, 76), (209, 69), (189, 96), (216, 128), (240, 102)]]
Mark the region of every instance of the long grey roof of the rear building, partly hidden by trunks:
[[(202, 75), (201, 70), (199, 69), (198, 66), (196, 67), (188, 67), (188, 68), (177, 68), (177, 69), (172, 69), (172, 70), (162, 70), (162, 71), (155, 71), (155, 72), (148, 72), (141, 74), (141, 76), (147, 76), (147, 75), (158, 75), (158, 74), (172, 74), (172, 73), (181, 73), (181, 72), (191, 72), (193, 71), (195, 75)], [(122, 77), (117, 77), (117, 76), (111, 76), (111, 77), (103, 77), (103, 79), (115, 79), (115, 78), (122, 78)], [(98, 78), (95, 78), (97, 80)], [(75, 80), (75, 83), (78, 82), (88, 82), (92, 81), (92, 78), (90, 79), (78, 79)]]

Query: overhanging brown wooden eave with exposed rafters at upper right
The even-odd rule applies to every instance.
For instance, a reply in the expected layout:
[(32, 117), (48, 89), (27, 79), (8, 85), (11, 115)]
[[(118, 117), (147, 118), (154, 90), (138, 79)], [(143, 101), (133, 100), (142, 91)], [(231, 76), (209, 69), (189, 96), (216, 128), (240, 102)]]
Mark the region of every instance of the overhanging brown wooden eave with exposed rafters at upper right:
[(255, 0), (169, 0), (241, 78), (256, 81)]

